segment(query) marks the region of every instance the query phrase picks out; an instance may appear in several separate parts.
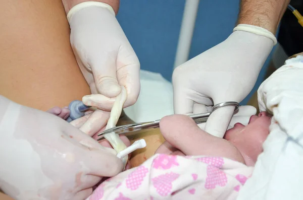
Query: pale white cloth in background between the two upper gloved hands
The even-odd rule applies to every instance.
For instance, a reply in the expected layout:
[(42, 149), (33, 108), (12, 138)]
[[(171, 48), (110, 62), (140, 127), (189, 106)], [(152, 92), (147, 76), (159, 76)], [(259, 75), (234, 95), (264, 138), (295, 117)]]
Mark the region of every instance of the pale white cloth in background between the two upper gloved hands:
[(161, 74), (140, 70), (141, 90), (137, 102), (124, 109), (134, 122), (153, 121), (174, 114), (173, 85)]

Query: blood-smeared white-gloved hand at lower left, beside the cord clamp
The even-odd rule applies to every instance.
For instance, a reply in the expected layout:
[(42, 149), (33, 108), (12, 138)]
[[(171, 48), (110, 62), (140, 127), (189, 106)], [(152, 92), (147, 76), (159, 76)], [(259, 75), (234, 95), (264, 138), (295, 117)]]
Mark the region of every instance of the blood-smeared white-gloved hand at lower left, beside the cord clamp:
[(122, 170), (116, 151), (65, 120), (0, 96), (0, 187), (14, 199), (85, 199)]

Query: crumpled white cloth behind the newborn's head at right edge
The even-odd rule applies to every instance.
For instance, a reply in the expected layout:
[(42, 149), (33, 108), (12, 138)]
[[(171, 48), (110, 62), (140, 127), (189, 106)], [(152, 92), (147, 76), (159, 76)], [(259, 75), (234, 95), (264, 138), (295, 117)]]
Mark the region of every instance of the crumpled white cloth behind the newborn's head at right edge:
[(303, 56), (264, 81), (258, 101), (261, 111), (274, 114), (270, 135), (237, 199), (303, 199)]

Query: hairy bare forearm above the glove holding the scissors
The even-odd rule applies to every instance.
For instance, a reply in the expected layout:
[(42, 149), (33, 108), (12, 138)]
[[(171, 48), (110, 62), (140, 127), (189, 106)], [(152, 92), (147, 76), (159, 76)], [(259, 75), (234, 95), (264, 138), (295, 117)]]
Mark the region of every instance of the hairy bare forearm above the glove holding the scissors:
[(276, 33), (290, 0), (242, 0), (237, 24), (259, 26)]

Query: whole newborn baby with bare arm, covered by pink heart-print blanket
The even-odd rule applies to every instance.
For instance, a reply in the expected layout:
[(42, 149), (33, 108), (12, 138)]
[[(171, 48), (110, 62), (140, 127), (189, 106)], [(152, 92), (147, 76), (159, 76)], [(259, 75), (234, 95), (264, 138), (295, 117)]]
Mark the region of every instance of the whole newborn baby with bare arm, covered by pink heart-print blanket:
[(270, 122), (266, 112), (253, 115), (247, 126), (237, 123), (221, 139), (186, 115), (166, 116), (160, 122), (166, 142), (156, 154), (104, 181), (87, 199), (236, 199), (262, 152)]

